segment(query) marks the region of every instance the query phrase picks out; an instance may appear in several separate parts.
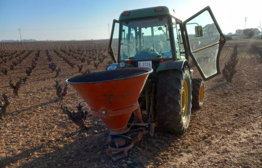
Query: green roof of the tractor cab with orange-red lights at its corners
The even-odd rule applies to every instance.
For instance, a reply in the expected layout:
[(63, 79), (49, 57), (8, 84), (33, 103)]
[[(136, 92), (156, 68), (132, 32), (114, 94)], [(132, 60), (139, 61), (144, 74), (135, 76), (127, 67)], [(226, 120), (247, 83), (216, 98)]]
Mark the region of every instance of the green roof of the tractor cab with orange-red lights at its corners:
[[(119, 20), (127, 20), (127, 19), (135, 19), (135, 18), (143, 18), (157, 15), (171, 15), (174, 16), (174, 12), (167, 8), (166, 6), (160, 6), (163, 8), (162, 11), (156, 11), (156, 8), (159, 7), (150, 7), (150, 8), (142, 8), (129, 10), (129, 15), (124, 16), (124, 12), (119, 16)], [(174, 16), (175, 17), (175, 16)]]

